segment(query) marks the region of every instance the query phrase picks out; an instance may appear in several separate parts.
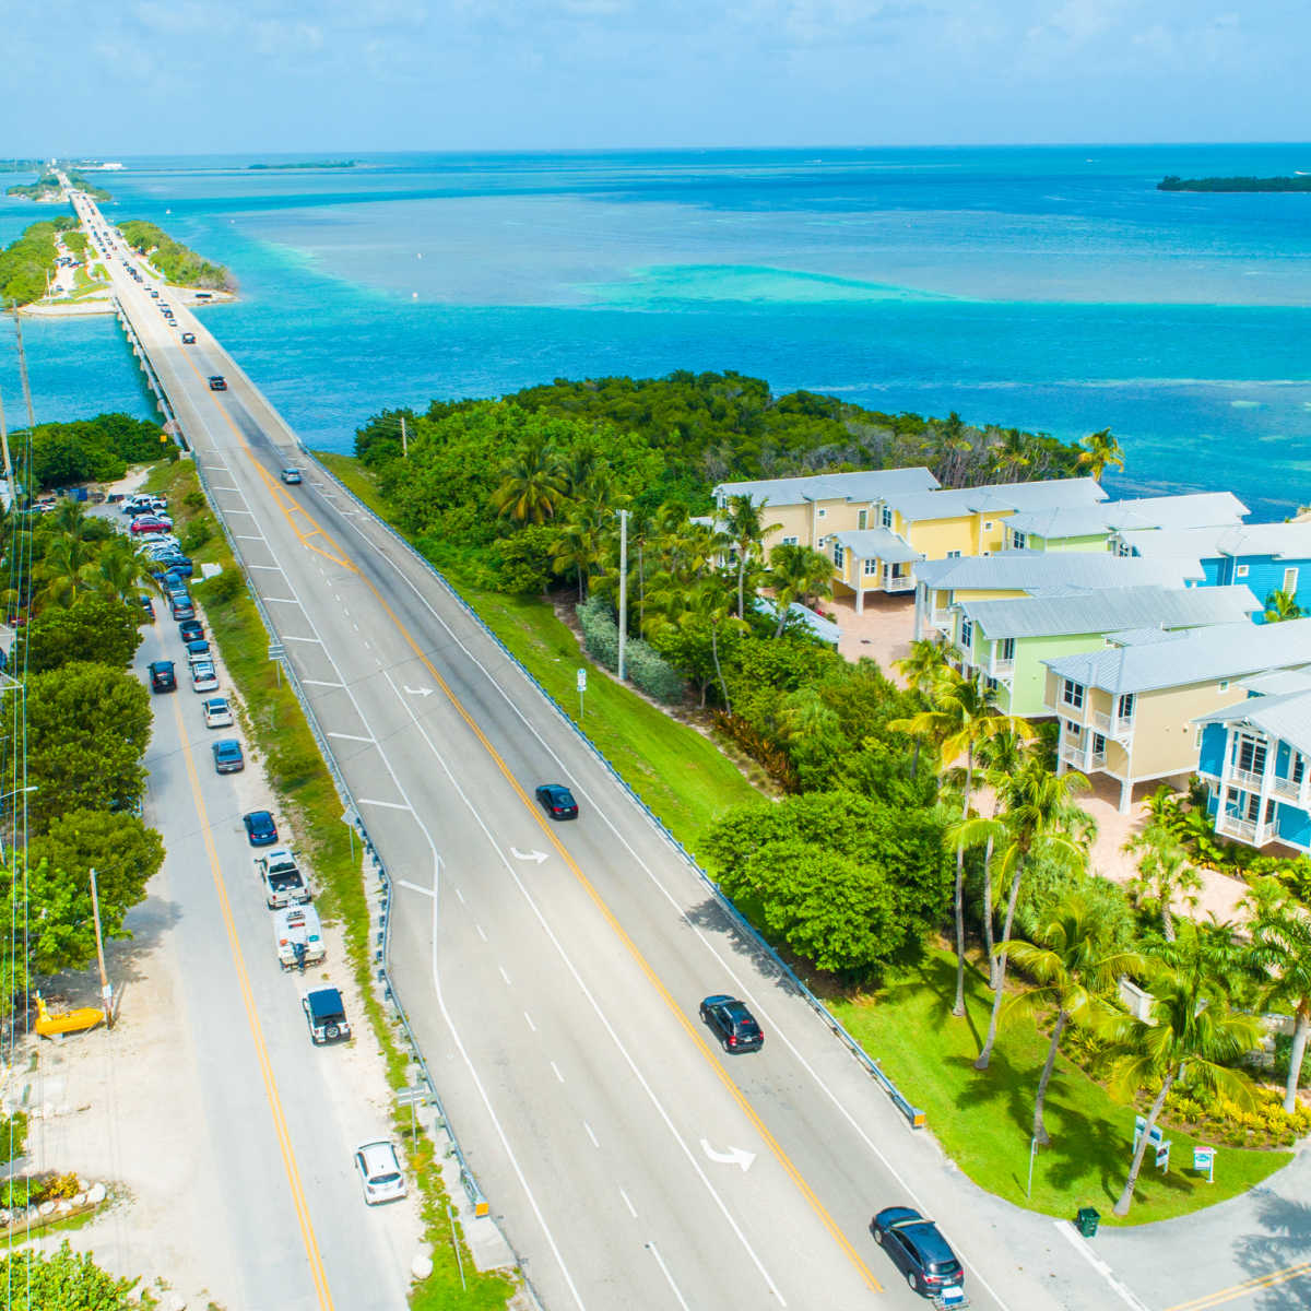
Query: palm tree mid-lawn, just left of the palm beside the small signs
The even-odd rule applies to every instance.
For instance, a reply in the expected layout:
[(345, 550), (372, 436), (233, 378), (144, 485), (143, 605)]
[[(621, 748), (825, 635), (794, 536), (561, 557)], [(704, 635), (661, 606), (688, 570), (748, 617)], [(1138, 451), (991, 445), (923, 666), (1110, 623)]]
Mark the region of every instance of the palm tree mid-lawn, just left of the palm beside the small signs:
[(1105, 920), (1099, 920), (1096, 907), (1080, 893), (1061, 901), (1033, 936), (1033, 943), (1023, 939), (1000, 943), (998, 950), (1007, 952), (1040, 985), (1016, 992), (1006, 1003), (1006, 1017), (1033, 1015), (1047, 1006), (1057, 1011), (1033, 1105), (1033, 1137), (1046, 1145), (1050, 1138), (1042, 1116), (1066, 1027), (1093, 1020), (1120, 975), (1142, 974), (1147, 964), (1137, 952), (1120, 949), (1110, 941)]

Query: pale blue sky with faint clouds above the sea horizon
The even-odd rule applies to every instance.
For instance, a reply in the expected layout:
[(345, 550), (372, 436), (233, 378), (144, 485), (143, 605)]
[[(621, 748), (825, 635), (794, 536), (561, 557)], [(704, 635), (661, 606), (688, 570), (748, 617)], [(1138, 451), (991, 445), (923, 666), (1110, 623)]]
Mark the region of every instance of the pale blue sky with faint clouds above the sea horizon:
[(0, 0), (0, 156), (1304, 140), (1304, 0)]

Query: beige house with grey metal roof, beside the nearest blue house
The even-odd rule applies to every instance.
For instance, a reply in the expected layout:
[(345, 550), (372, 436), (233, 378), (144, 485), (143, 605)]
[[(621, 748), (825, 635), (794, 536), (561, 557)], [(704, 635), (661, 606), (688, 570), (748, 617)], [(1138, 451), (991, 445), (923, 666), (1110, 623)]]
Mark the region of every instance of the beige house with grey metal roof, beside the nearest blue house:
[(1197, 720), (1245, 700), (1256, 675), (1311, 665), (1311, 619), (1113, 633), (1101, 650), (1044, 663), (1058, 771), (1118, 780), (1127, 813), (1134, 784), (1197, 770)]

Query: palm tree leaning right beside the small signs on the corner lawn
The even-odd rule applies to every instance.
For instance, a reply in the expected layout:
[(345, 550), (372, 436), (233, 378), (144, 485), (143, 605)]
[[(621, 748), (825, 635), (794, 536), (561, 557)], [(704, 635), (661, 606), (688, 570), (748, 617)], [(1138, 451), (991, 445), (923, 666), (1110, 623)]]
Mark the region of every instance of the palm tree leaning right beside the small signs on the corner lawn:
[(1117, 1215), (1127, 1215), (1133, 1206), (1151, 1131), (1176, 1083), (1210, 1088), (1240, 1106), (1251, 1106), (1253, 1100), (1248, 1082), (1228, 1065), (1260, 1045), (1261, 1025), (1256, 1016), (1230, 1009), (1223, 979), (1164, 969), (1152, 978), (1151, 991), (1148, 1020), (1117, 1012), (1103, 1027), (1120, 1049), (1112, 1088), (1126, 1099), (1143, 1088), (1156, 1089), (1129, 1179), (1114, 1205)]

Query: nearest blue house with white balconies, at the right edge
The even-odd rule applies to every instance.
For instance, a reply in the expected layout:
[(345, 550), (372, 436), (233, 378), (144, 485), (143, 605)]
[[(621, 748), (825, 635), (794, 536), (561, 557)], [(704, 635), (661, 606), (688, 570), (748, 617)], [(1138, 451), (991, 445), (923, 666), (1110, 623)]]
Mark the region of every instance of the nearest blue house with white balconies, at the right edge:
[(1301, 690), (1249, 695), (1193, 721), (1202, 728), (1197, 772), (1221, 836), (1311, 852), (1311, 671), (1272, 678)]

